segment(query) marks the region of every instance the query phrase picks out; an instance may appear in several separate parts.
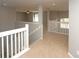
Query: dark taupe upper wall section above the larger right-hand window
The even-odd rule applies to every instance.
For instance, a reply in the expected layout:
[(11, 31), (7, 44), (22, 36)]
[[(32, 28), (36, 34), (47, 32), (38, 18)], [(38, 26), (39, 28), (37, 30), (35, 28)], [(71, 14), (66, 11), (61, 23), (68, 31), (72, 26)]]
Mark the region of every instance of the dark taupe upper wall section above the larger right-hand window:
[(68, 11), (50, 11), (49, 12), (50, 16), (49, 16), (49, 19), (50, 20), (60, 20), (60, 18), (68, 18), (69, 17), (69, 13)]

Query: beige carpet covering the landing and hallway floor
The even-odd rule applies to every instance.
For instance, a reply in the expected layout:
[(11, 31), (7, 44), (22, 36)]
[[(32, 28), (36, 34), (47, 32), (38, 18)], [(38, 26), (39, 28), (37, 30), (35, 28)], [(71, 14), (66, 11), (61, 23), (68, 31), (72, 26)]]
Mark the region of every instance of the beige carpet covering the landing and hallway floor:
[(43, 40), (34, 43), (31, 49), (20, 58), (67, 58), (67, 36), (56, 33), (46, 33)]

